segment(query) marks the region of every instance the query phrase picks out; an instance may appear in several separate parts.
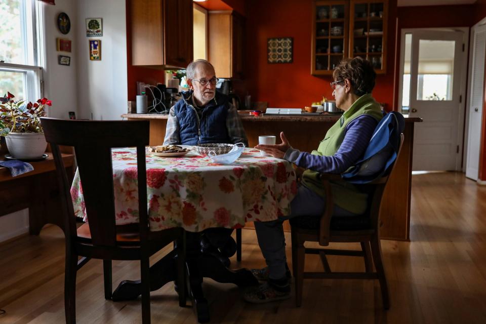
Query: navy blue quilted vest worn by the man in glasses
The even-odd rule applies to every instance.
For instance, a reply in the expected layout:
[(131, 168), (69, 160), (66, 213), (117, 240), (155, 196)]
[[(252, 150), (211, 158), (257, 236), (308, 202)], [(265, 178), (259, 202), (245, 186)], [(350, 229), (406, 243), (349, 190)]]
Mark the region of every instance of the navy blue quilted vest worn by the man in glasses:
[(196, 108), (190, 99), (192, 91), (182, 94), (174, 110), (179, 121), (179, 136), (182, 145), (197, 145), (204, 143), (229, 143), (228, 130), (226, 129), (226, 116), (228, 114), (228, 97), (216, 93), (203, 109), (199, 119)]

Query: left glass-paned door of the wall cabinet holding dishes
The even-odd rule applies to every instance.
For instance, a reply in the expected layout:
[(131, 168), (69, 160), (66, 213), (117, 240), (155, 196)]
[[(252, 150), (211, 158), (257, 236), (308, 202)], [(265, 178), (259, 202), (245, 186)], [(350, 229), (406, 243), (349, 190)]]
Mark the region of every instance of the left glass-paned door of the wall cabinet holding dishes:
[(315, 1), (314, 4), (311, 73), (333, 74), (334, 67), (348, 55), (349, 2)]

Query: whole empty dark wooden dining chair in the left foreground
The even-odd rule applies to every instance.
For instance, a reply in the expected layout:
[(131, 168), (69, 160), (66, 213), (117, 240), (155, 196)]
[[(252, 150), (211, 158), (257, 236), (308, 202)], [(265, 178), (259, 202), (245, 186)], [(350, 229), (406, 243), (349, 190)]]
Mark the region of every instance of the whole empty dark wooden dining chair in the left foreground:
[[(140, 260), (142, 322), (150, 323), (149, 257), (176, 242), (164, 258), (177, 255), (179, 305), (186, 303), (185, 232), (182, 228), (150, 231), (147, 212), (145, 146), (149, 122), (85, 121), (41, 118), (46, 140), (51, 144), (59, 179), (66, 235), (64, 307), (66, 323), (76, 322), (76, 271), (91, 258), (103, 260), (105, 299), (111, 299), (111, 260)], [(59, 145), (72, 146), (89, 218), (76, 228), (71, 183), (65, 172)], [(137, 148), (139, 224), (116, 226), (111, 149)], [(82, 257), (78, 260), (78, 257)]]

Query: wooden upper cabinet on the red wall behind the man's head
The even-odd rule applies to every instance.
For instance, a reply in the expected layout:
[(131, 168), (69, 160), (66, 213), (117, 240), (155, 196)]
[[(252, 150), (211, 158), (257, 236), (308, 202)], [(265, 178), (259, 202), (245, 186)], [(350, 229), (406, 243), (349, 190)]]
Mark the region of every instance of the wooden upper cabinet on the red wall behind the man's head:
[(208, 60), (216, 76), (243, 78), (245, 19), (235, 11), (208, 13)]

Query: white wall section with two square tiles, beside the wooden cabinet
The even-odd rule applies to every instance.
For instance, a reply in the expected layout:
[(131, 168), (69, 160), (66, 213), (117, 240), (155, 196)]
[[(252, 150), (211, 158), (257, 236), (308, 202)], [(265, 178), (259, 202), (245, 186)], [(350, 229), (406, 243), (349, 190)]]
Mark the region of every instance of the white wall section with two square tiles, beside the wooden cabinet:
[[(77, 7), (79, 118), (121, 119), (127, 112), (127, 28), (125, 0), (83, 0)], [(103, 36), (86, 36), (86, 18), (102, 18)], [(101, 61), (90, 61), (88, 39), (101, 40)]]

